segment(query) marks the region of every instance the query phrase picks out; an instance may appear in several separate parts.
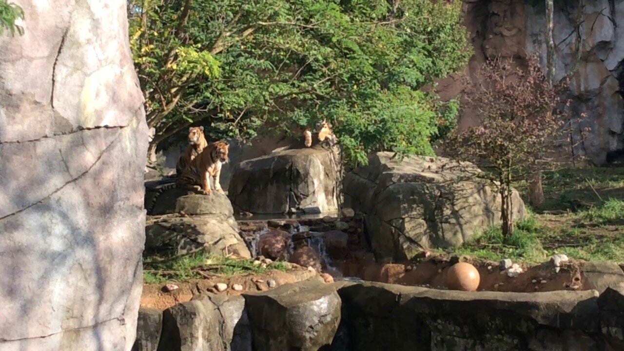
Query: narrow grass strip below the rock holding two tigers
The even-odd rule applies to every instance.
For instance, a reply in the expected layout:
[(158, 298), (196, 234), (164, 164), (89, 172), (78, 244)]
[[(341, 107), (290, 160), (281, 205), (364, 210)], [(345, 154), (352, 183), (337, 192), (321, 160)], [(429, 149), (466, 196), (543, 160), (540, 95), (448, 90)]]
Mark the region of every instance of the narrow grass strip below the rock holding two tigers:
[[(165, 260), (164, 262), (159, 262)], [(270, 270), (287, 270), (283, 262), (272, 262), (266, 267), (256, 265), (253, 260), (217, 257), (198, 252), (192, 255), (166, 260), (166, 257), (145, 257), (143, 274), (146, 284), (160, 284), (167, 281), (183, 282), (201, 279), (198, 270), (209, 275), (264, 274)]]

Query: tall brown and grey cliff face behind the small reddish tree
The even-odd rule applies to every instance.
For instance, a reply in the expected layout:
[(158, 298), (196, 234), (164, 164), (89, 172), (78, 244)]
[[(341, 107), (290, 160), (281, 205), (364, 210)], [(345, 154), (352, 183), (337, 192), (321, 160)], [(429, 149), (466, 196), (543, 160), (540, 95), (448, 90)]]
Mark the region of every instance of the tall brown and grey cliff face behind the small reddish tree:
[[(464, 14), (475, 54), (465, 71), (440, 82), (438, 90), (443, 98), (461, 92), (459, 78), (478, 74), (486, 57), (522, 59), (539, 52), (545, 66), (544, 1), (464, 0)], [(594, 164), (605, 164), (611, 158), (608, 154), (624, 149), (620, 89), (624, 83), (624, 1), (555, 1), (554, 17), (557, 79), (577, 67), (570, 82), (570, 117), (577, 131), (573, 137), (578, 140), (580, 131), (591, 129), (587, 139), (575, 148), (575, 154), (587, 156)], [(577, 33), (582, 41), (577, 40)], [(587, 115), (581, 117), (583, 112)], [(465, 111), (460, 127), (478, 122), (474, 111)]]

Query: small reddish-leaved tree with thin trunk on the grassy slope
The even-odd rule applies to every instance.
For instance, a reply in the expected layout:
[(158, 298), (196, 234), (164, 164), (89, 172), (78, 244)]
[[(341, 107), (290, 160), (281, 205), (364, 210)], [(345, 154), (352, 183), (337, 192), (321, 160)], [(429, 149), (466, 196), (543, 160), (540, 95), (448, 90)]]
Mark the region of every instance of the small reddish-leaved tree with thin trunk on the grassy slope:
[(499, 189), (504, 235), (514, 229), (512, 183), (555, 167), (557, 160), (546, 156), (570, 136), (560, 109), (567, 104), (561, 98), (567, 83), (550, 84), (535, 54), (517, 69), (510, 61), (492, 59), (467, 91), (469, 104), (480, 112), (480, 126), (456, 131), (445, 141), (447, 152), (484, 170), (472, 175)]

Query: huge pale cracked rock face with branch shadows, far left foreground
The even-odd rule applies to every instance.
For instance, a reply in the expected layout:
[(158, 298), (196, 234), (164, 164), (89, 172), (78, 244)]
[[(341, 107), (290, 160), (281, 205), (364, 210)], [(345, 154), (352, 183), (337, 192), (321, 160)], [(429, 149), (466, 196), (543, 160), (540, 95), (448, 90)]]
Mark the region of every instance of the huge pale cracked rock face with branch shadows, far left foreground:
[(0, 349), (129, 350), (147, 126), (126, 2), (16, 0), (0, 36)]

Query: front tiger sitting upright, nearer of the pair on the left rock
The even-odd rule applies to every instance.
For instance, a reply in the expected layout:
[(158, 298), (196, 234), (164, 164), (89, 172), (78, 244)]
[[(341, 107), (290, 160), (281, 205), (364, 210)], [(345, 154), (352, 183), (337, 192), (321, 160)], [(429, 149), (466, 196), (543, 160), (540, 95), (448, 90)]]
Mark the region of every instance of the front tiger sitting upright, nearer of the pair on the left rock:
[(203, 151), (195, 157), (188, 167), (182, 172), (176, 182), (178, 188), (197, 189), (198, 185), (203, 189), (203, 193), (209, 195), (209, 177), (215, 182), (215, 190), (223, 193), (220, 184), (221, 167), (228, 162), (229, 145), (223, 141), (210, 142)]

